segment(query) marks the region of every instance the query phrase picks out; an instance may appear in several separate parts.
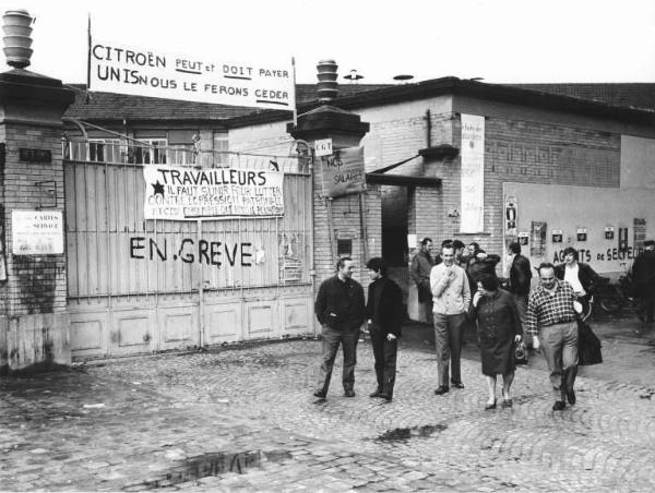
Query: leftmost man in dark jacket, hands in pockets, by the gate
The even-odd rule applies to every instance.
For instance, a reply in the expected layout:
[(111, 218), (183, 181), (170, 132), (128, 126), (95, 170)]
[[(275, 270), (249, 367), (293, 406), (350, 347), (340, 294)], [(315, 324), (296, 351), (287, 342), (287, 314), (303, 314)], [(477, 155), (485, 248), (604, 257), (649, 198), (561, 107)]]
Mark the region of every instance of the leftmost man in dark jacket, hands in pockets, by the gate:
[(319, 388), (314, 396), (325, 398), (332, 377), (338, 345), (344, 351), (343, 385), (346, 397), (355, 397), (355, 364), (357, 340), (364, 323), (364, 288), (353, 280), (355, 266), (350, 257), (344, 256), (336, 263), (336, 276), (325, 279), (319, 288), (314, 303), (317, 318), (323, 326), (323, 353)]

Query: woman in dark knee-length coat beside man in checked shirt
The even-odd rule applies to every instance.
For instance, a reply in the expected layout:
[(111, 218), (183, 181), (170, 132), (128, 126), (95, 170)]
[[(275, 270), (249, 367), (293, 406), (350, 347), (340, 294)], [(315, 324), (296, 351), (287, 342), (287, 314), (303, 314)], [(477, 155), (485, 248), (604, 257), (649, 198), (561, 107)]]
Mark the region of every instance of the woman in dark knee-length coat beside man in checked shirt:
[(510, 389), (514, 380), (514, 344), (522, 338), (523, 327), (512, 294), (499, 289), (498, 277), (483, 274), (473, 296), (489, 399), (485, 409), (496, 408), (496, 376), (502, 375), (502, 406), (512, 407)]

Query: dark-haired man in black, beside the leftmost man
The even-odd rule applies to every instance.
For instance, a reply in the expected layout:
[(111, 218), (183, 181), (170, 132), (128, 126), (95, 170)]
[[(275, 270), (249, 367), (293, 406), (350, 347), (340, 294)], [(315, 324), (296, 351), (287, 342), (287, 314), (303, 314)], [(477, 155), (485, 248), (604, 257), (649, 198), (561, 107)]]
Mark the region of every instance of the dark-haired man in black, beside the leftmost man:
[(386, 265), (380, 257), (366, 264), (372, 282), (368, 289), (366, 317), (368, 320), (373, 356), (376, 357), (376, 376), (378, 387), (371, 397), (381, 397), (391, 401), (396, 373), (398, 337), (403, 324), (403, 291), (386, 277)]

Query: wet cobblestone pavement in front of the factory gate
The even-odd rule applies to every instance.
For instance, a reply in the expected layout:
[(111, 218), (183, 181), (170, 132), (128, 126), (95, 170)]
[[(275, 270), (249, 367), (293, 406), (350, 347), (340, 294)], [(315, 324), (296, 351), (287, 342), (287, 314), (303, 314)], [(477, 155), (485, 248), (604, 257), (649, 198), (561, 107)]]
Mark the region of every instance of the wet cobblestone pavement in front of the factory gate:
[(594, 324), (606, 362), (581, 368), (577, 404), (551, 410), (540, 354), (514, 406), (485, 411), (474, 342), (464, 389), (436, 396), (430, 330), (408, 326), (392, 402), (371, 399), (360, 342), (355, 398), (341, 351), (312, 397), (321, 342), (82, 364), (0, 383), (2, 491), (655, 490), (655, 341), (634, 322)]

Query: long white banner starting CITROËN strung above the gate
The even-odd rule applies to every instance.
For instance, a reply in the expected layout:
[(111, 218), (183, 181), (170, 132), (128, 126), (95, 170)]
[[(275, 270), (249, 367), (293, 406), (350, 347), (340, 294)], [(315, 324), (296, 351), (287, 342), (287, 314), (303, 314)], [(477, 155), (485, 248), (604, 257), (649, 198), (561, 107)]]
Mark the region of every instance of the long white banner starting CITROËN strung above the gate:
[(94, 39), (90, 71), (91, 91), (289, 111), (296, 104), (290, 59), (235, 62)]

